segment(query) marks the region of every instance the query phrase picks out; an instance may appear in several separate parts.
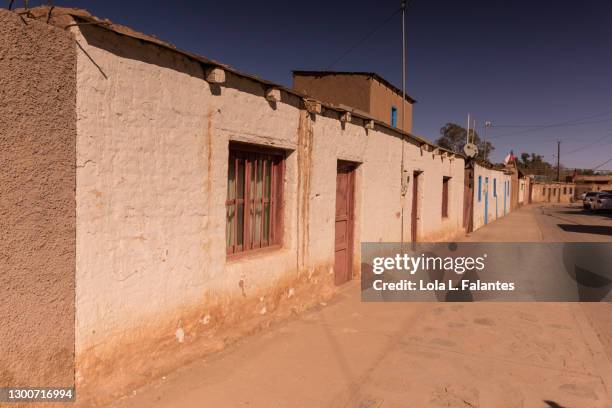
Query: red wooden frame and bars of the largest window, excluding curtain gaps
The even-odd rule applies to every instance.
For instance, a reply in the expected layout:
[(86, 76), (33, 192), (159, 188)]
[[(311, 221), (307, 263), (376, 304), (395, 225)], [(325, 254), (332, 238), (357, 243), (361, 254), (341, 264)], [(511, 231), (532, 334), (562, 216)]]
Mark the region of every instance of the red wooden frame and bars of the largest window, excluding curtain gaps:
[[(246, 254), (251, 254), (259, 250), (267, 250), (279, 248), (282, 246), (283, 238), (283, 191), (285, 177), (285, 159), (286, 152), (281, 149), (274, 149), (259, 145), (250, 145), (246, 143), (230, 142), (228, 149), (228, 169), (226, 175), (226, 198), (225, 198), (225, 247), (228, 257), (237, 257)], [(261, 196), (257, 197), (251, 191), (257, 190), (258, 163), (263, 163), (264, 160), (270, 162), (269, 166), (263, 164), (261, 170)], [(243, 185), (240, 187), (239, 168), (240, 161), (243, 161)], [(234, 166), (234, 197), (230, 199), (230, 166)], [(269, 198), (266, 197), (266, 172), (270, 170), (270, 186)], [(251, 176), (254, 174), (253, 178)], [(242, 189), (242, 197), (239, 197), (239, 189)], [(269, 220), (268, 220), (268, 239), (264, 240), (265, 228), (265, 208), (269, 205)], [(259, 241), (252, 239), (251, 223), (253, 223), (256, 214), (255, 208), (257, 205), (261, 207), (261, 222), (259, 225)], [(238, 208), (242, 207), (242, 225), (238, 222)], [(234, 222), (233, 234), (228, 237), (228, 228), (230, 227), (230, 210), (233, 207)], [(242, 233), (242, 243), (238, 244), (238, 232)], [(230, 242), (231, 240), (231, 242)]]

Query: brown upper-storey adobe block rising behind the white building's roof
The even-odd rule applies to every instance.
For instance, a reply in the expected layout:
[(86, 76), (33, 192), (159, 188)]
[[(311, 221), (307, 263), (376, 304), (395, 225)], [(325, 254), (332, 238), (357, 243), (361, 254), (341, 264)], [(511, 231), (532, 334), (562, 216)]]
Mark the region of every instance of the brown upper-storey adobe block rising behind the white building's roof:
[(412, 105), (416, 101), (406, 95), (406, 123), (402, 123), (402, 90), (373, 72), (293, 71), (293, 89), (412, 132)]

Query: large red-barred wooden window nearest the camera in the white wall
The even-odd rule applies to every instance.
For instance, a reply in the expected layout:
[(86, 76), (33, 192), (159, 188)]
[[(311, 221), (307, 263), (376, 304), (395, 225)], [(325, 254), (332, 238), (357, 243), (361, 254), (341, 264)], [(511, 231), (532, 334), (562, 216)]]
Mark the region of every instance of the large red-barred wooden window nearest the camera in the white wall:
[(280, 245), (284, 158), (282, 150), (230, 145), (225, 202), (228, 254)]

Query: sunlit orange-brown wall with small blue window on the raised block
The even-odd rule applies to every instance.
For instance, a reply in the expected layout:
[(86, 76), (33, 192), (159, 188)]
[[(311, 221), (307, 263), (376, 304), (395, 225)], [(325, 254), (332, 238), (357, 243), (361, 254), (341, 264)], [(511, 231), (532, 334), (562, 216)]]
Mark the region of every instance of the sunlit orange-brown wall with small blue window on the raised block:
[(412, 132), (412, 104), (406, 101), (405, 120), (402, 124), (402, 97), (389, 89), (385, 84), (370, 78), (370, 114), (389, 125), (391, 125), (391, 107), (397, 108), (397, 127), (406, 132)]

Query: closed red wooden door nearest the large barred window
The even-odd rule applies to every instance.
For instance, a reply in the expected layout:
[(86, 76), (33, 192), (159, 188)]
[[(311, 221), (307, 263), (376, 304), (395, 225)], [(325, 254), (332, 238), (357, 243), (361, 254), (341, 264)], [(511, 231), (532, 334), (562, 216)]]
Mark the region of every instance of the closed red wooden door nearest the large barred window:
[(336, 175), (336, 238), (334, 281), (341, 285), (353, 275), (353, 201), (355, 166), (338, 162)]

